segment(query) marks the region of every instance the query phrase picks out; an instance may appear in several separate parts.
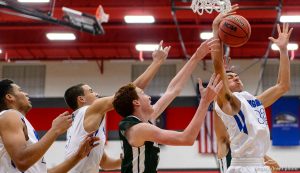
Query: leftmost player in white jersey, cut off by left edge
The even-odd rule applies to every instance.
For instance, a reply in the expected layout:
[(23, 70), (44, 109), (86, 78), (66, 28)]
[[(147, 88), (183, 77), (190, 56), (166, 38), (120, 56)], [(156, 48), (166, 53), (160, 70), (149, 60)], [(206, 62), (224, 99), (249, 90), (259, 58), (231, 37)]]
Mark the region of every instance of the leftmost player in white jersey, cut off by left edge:
[[(27, 93), (11, 80), (0, 81), (1, 173), (47, 173), (44, 154), (55, 139), (71, 126), (71, 115), (64, 112), (53, 120), (51, 129), (39, 140), (25, 117), (30, 109)], [(97, 140), (89, 134), (72, 157), (48, 172), (67, 172), (95, 147), (93, 143)]]

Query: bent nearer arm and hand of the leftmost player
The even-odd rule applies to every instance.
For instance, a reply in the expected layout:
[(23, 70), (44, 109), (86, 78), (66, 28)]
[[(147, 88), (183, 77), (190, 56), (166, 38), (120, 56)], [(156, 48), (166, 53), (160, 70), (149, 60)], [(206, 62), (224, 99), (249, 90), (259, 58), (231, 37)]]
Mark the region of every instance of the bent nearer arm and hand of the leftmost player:
[(6, 151), (16, 167), (25, 172), (40, 160), (55, 139), (63, 134), (72, 123), (72, 117), (65, 112), (53, 120), (51, 129), (35, 144), (27, 145), (26, 126), (16, 111), (7, 111), (1, 117), (0, 135)]

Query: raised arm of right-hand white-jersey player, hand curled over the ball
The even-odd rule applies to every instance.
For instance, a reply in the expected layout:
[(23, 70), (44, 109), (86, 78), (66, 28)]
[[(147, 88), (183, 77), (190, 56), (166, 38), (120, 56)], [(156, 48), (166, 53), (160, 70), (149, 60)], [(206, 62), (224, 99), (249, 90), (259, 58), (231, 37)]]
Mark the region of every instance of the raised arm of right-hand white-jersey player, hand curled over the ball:
[[(238, 5), (233, 5), (232, 10), (230, 10), (228, 13), (223, 14), (220, 13), (213, 21), (212, 29), (213, 29), (213, 36), (214, 38), (219, 38), (219, 25), (221, 21), (229, 15), (235, 14), (236, 10), (238, 9)], [(225, 73), (224, 68), (224, 62), (223, 62), (223, 43), (220, 41), (218, 51), (214, 51), (211, 53), (214, 70), (216, 74), (219, 74), (221, 77), (221, 80), (223, 80), (224, 87), (220, 91), (218, 97), (217, 97), (217, 103), (221, 107), (221, 109), (227, 113), (227, 114), (234, 114), (234, 112), (237, 112), (239, 110), (239, 100), (232, 94), (232, 92), (229, 89), (228, 86), (228, 80)]]

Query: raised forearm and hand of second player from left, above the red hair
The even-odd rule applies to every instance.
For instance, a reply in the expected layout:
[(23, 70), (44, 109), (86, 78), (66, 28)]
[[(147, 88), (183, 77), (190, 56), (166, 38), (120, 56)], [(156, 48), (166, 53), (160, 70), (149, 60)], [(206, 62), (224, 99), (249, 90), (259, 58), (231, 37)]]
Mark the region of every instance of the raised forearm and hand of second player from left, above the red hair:
[(167, 46), (165, 48), (162, 47), (163, 41), (159, 43), (159, 47), (152, 53), (153, 61), (146, 69), (146, 71), (141, 74), (133, 84), (141, 89), (146, 88), (149, 82), (153, 79), (155, 74), (158, 72), (160, 66), (165, 62), (168, 57), (168, 53), (171, 49), (171, 46)]

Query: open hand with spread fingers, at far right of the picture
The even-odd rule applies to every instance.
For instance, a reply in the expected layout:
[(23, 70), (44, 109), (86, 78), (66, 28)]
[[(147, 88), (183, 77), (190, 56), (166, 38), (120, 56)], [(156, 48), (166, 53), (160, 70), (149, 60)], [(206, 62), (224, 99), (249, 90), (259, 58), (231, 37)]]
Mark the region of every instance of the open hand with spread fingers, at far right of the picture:
[(280, 50), (287, 49), (287, 44), (289, 43), (293, 28), (289, 29), (289, 24), (284, 23), (281, 31), (280, 25), (277, 24), (277, 31), (278, 31), (278, 38), (275, 39), (273, 37), (269, 37), (269, 39), (273, 43), (275, 43)]

